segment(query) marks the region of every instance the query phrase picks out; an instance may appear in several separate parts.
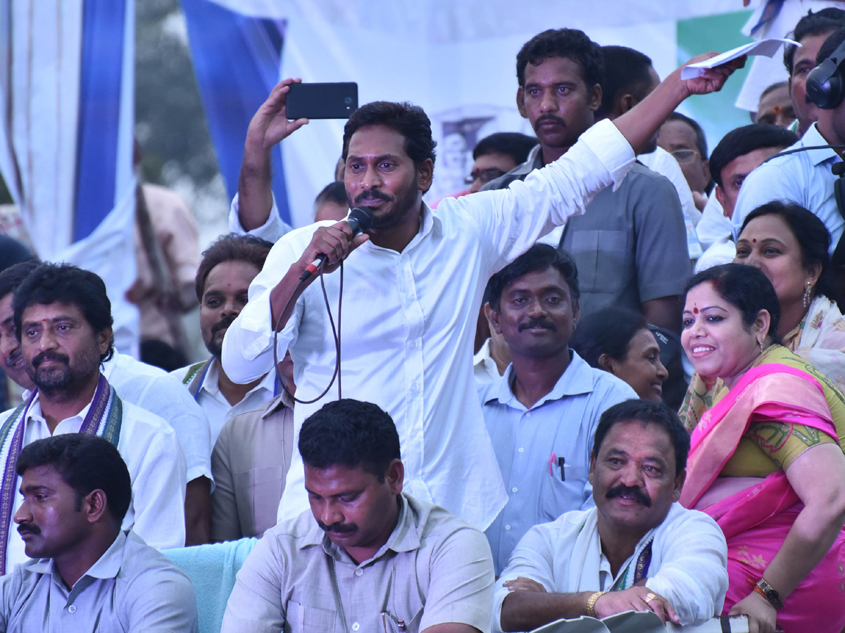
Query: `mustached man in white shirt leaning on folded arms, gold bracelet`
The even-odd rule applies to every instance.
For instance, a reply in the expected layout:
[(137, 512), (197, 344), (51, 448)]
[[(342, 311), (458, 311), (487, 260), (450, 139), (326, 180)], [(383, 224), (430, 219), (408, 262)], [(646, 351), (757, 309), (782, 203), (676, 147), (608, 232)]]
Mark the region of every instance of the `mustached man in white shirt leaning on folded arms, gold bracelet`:
[(496, 582), (493, 630), (651, 610), (681, 625), (722, 613), (722, 529), (678, 499), (690, 436), (662, 403), (602, 414), (590, 462), (596, 506), (532, 527)]

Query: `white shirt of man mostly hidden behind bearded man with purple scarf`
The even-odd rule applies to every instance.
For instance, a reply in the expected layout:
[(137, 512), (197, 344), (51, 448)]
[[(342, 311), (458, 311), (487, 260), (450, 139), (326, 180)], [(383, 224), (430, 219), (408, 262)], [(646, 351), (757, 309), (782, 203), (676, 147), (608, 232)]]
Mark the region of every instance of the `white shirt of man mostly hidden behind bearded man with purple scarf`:
[(143, 408), (171, 425), (185, 454), (188, 481), (211, 479), (209, 423), (183, 384), (166, 371), (115, 350), (103, 363), (103, 376), (124, 403)]

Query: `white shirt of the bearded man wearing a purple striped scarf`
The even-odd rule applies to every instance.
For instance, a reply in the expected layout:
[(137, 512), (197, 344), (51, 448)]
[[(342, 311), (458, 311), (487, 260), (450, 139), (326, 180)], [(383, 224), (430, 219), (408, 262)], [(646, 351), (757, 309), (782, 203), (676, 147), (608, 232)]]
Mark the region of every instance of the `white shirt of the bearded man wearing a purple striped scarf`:
[[(25, 421), (24, 446), (51, 435), (79, 433), (90, 406), (88, 403), (79, 414), (63, 419), (51, 434), (41, 415), (39, 397), (35, 396)], [(14, 408), (0, 414), (0, 425), (13, 413)], [(132, 479), (132, 502), (123, 518), (123, 529), (131, 529), (155, 549), (184, 547), (187, 479), (185, 456), (176, 432), (159, 416), (124, 401), (117, 451), (126, 462)], [(19, 489), (20, 478), (14, 490), (15, 512), (24, 502)], [(24, 547), (24, 539), (13, 526), (8, 533), (7, 571), (30, 560)]]

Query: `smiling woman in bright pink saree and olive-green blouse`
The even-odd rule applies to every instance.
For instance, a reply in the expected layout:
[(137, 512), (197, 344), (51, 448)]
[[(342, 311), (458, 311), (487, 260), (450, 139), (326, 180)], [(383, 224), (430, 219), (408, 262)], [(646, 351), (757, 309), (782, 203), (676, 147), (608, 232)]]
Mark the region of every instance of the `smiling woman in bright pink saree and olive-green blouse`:
[(681, 503), (728, 540), (725, 614), (752, 631), (845, 628), (845, 455), (835, 387), (777, 344), (780, 305), (756, 268), (690, 279), (681, 342), (724, 386), (695, 427)]

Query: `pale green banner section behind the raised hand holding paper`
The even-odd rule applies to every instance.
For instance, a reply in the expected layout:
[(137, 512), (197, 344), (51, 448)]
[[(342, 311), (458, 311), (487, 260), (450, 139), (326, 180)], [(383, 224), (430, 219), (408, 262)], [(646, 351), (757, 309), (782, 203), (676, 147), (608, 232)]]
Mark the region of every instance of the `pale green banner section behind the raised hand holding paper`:
[[(678, 65), (690, 57), (708, 51), (729, 51), (752, 40), (742, 34), (742, 27), (748, 21), (751, 11), (736, 11), (729, 14), (708, 15), (703, 18), (678, 20)], [(780, 55), (780, 51), (775, 55)], [(695, 95), (684, 101), (679, 108), (701, 124), (707, 136), (707, 151), (735, 127), (751, 122), (748, 112), (733, 104), (745, 81), (751, 60), (733, 73), (724, 88), (715, 95)]]

